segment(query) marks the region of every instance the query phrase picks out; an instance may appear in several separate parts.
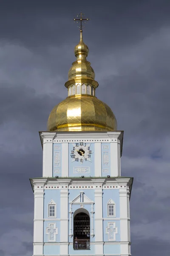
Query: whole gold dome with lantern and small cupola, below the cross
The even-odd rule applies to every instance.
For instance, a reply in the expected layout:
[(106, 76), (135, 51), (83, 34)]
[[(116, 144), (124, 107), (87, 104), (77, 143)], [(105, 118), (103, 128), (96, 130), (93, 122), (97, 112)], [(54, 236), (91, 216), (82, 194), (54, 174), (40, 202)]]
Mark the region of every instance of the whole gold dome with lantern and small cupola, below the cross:
[(77, 61), (68, 72), (68, 97), (56, 105), (48, 118), (48, 131), (116, 131), (111, 108), (95, 96), (98, 87), (95, 73), (86, 60), (88, 47), (82, 40), (74, 48)]

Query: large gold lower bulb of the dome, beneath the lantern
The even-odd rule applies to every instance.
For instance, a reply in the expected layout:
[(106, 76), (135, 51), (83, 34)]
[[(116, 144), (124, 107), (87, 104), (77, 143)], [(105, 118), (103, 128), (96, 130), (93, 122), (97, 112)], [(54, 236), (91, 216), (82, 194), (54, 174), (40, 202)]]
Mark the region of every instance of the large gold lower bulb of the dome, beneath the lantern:
[(69, 96), (56, 105), (48, 118), (48, 131), (115, 131), (116, 118), (95, 96)]

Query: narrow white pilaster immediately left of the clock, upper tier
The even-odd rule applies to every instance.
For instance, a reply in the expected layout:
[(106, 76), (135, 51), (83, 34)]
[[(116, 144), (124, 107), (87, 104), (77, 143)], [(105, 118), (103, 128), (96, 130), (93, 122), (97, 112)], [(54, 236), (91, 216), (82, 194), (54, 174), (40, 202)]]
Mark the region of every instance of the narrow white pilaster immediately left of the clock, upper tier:
[(62, 177), (68, 177), (68, 143), (62, 143)]

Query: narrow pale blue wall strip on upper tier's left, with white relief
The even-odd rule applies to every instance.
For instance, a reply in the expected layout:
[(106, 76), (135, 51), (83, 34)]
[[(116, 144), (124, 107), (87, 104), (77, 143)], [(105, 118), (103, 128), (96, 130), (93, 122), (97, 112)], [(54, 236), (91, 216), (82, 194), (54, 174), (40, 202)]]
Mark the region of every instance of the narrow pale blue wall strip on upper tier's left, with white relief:
[[(58, 164), (55, 164), (55, 155), (59, 154)], [(53, 144), (53, 177), (61, 176), (62, 170), (62, 143)]]

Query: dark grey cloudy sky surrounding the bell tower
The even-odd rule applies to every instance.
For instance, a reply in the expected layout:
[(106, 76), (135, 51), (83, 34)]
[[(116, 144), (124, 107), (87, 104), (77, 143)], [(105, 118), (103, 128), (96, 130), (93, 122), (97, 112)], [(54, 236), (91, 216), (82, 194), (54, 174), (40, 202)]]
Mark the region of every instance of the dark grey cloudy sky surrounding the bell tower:
[(83, 33), (96, 96), (124, 130), (122, 175), (134, 177), (131, 253), (170, 252), (170, 1), (0, 0), (0, 256), (30, 256), (46, 130)]

